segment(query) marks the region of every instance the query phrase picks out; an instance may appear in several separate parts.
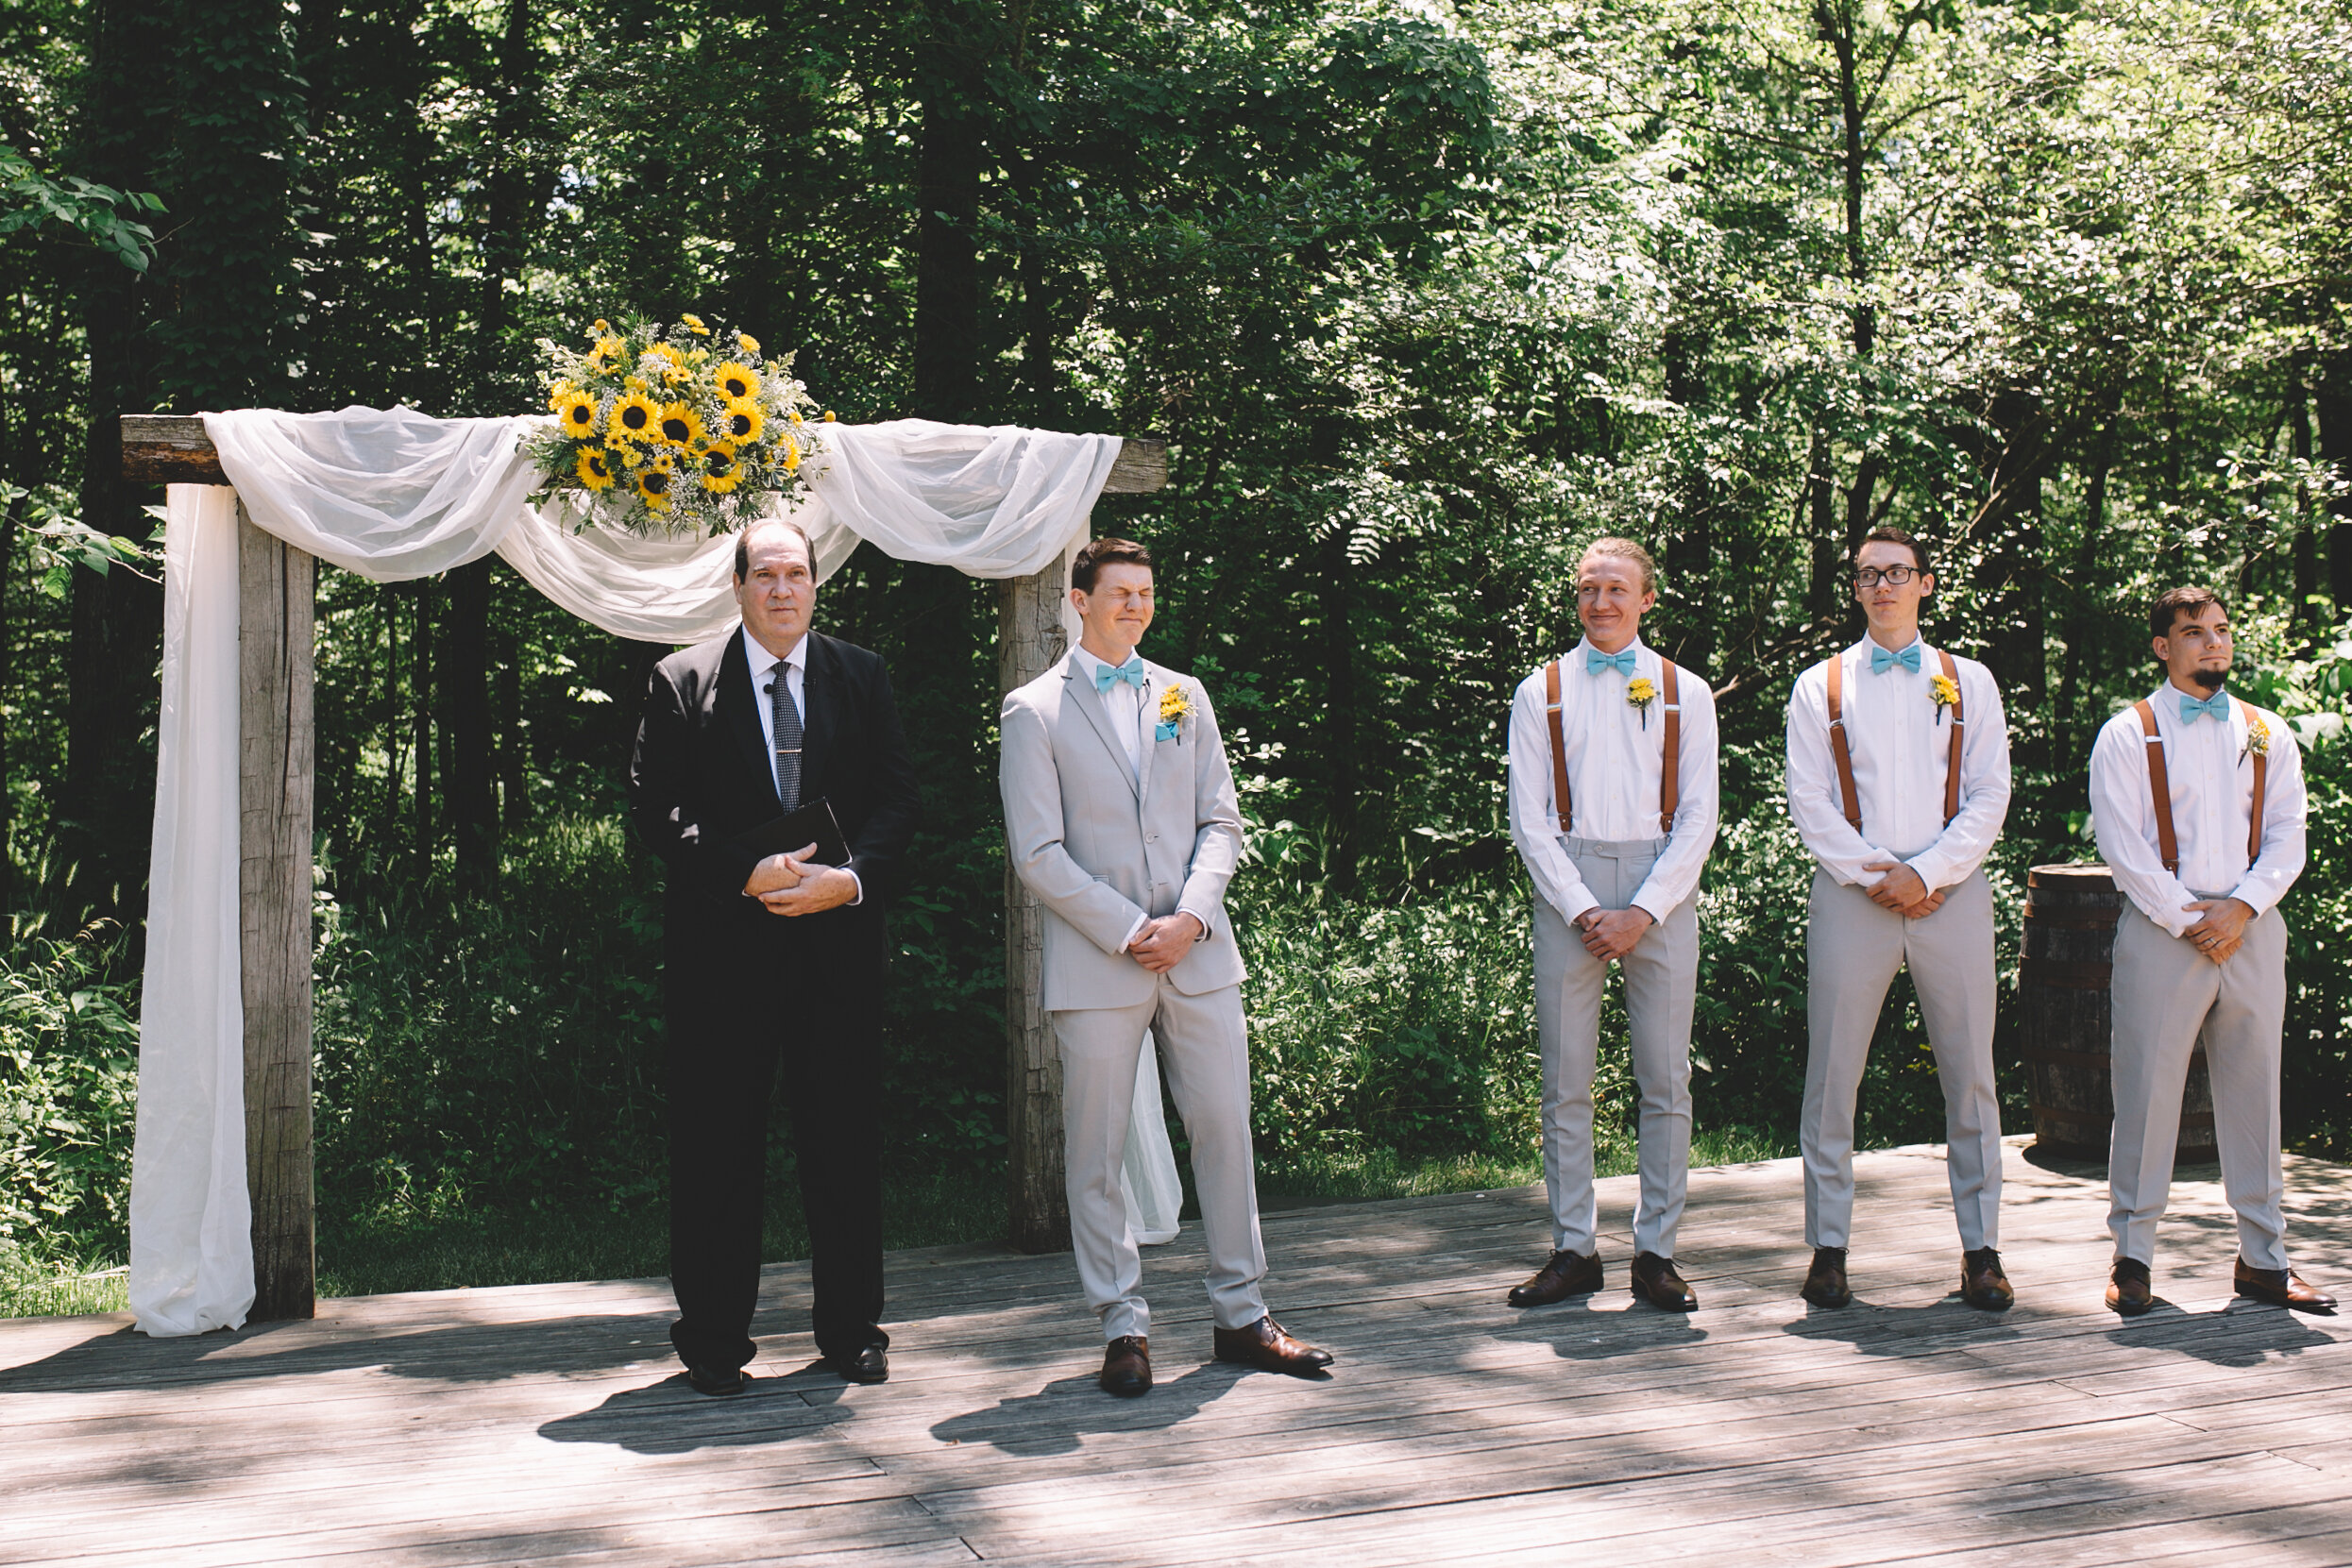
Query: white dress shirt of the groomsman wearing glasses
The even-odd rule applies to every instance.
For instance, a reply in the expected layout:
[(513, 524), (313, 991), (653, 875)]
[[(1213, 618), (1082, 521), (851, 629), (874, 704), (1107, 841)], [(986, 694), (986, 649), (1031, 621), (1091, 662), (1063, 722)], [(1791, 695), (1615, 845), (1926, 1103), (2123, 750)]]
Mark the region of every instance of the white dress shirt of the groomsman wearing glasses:
[(1830, 755), (1830, 661), (1797, 677), (1788, 693), (1788, 813), (1797, 837), (1823, 870), (1846, 886), (1877, 886), (1886, 872), (1863, 870), (1872, 860), (1903, 860), (1926, 889), (1966, 882), (2009, 816), (2009, 724), (1992, 670), (1973, 658), (1955, 658), (1962, 703), (1959, 816), (1943, 823), (1943, 785), (1952, 759), (1952, 710), (1931, 693), (1943, 661), (1922, 639), (1919, 670), (1891, 665), (1870, 672), (1863, 637), (1839, 654), (1846, 748), (1853, 755), (1853, 795), (1863, 806), (1860, 832), (1846, 820)]

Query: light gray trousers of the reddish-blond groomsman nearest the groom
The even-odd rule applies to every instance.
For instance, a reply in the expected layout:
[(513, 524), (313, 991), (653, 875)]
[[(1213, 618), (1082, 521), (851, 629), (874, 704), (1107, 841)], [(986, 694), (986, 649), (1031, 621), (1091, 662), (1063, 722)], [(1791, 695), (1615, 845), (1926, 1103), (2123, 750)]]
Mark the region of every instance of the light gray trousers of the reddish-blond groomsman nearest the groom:
[[(1602, 844), (1569, 839), (1569, 858), (1604, 910), (1632, 905), (1665, 839)], [(1675, 1227), (1691, 1180), (1691, 1011), (1698, 997), (1698, 907), (1684, 898), (1618, 964), (1625, 971), (1632, 1079), (1642, 1093), (1642, 1197), (1635, 1251), (1675, 1255)], [(1536, 898), (1536, 1032), (1543, 1041), (1543, 1185), (1552, 1199), (1552, 1246), (1595, 1251), (1592, 1065), (1609, 966), (1581, 933)]]

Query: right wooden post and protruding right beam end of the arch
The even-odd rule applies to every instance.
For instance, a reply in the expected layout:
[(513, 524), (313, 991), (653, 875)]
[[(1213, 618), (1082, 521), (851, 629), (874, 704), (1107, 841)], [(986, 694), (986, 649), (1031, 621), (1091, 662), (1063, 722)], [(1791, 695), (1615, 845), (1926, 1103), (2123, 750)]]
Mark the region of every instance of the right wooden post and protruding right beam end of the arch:
[[(1169, 444), (1129, 440), (1120, 447), (1105, 496), (1155, 491), (1169, 477)], [(997, 590), (997, 689), (1014, 691), (1037, 679), (1070, 651), (1061, 628), (1063, 562)], [(1023, 1253), (1061, 1253), (1070, 1246), (1070, 1194), (1061, 1159), (1061, 1048), (1040, 999), (1044, 964), (1044, 912), (1014, 867), (1004, 867), (1004, 1143), (1007, 1220), (1011, 1244)]]

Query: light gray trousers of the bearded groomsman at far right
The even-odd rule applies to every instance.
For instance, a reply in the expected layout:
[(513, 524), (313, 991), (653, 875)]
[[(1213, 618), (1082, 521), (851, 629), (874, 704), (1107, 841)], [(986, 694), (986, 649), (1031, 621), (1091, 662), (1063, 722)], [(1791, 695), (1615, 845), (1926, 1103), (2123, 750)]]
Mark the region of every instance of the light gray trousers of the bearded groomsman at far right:
[(2286, 919), (2274, 907), (2246, 922), (2246, 945), (2216, 964), (2124, 905), (2114, 922), (2114, 1145), (2107, 1152), (2107, 1229), (2117, 1258), (2157, 1260), (2157, 1220), (2171, 1197), (2180, 1138), (2180, 1091), (2201, 1037), (2220, 1182), (2237, 1211), (2237, 1251), (2258, 1269), (2286, 1267), (2284, 1025)]

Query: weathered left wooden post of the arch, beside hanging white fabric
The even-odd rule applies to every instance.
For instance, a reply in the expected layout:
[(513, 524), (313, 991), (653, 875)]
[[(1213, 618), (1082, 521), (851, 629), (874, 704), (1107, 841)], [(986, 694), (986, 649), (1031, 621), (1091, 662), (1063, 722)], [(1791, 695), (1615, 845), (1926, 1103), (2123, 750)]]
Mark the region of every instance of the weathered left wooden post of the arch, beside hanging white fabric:
[(313, 559), (238, 503), (238, 910), (252, 1321), (315, 1309), (310, 1213)]

